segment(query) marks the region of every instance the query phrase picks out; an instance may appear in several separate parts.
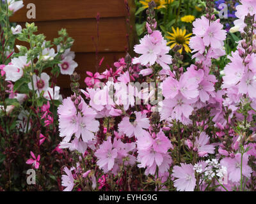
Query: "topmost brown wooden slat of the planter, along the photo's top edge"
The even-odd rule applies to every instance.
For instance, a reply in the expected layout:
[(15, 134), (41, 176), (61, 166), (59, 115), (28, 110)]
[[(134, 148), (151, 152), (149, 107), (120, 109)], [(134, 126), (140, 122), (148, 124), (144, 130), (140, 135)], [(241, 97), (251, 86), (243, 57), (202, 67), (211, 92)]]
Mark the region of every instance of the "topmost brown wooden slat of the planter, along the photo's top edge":
[[(12, 22), (37, 22), (45, 20), (124, 17), (127, 15), (124, 0), (23, 0), (24, 7), (10, 18)], [(29, 3), (36, 6), (36, 18), (27, 18)]]

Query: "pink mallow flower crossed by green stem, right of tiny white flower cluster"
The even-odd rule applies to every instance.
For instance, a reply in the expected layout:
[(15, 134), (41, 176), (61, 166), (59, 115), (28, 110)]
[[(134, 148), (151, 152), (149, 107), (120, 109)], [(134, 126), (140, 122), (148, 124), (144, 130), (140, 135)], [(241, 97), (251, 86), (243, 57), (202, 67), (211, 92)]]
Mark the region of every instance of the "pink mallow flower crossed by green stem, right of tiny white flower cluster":
[[(243, 164), (242, 164), (242, 175), (244, 177), (250, 178), (252, 173), (252, 168), (248, 166), (249, 155), (243, 154)], [(227, 167), (228, 180), (232, 182), (239, 182), (241, 179), (241, 153), (237, 153), (234, 158), (225, 157), (221, 160), (220, 164)]]

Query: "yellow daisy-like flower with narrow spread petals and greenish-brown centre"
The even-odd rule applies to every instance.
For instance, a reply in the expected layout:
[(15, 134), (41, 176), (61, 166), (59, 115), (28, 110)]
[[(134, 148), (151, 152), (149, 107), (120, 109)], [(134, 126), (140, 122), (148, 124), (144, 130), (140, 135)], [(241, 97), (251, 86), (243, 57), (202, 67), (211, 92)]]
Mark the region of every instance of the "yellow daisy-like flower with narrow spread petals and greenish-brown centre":
[(186, 52), (191, 52), (190, 48), (188, 47), (189, 45), (189, 36), (191, 36), (192, 33), (186, 34), (186, 29), (184, 29), (182, 31), (182, 29), (179, 29), (179, 27), (177, 27), (177, 30), (175, 31), (175, 29), (172, 27), (172, 31), (173, 33), (169, 33), (170, 36), (166, 36), (167, 39), (169, 39), (170, 41), (168, 41), (167, 45), (170, 45), (170, 48), (172, 49), (175, 45), (182, 45), (182, 48), (179, 50), (179, 53), (182, 53), (182, 50), (184, 48), (184, 50)]

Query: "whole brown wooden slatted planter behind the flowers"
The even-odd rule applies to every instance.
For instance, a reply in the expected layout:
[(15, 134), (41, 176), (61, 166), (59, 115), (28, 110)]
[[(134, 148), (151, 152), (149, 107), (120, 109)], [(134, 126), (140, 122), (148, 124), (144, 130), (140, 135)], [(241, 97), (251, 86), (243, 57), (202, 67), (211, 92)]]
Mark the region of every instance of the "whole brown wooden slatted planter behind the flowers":
[[(27, 4), (36, 6), (36, 18), (28, 19)], [(24, 0), (24, 7), (17, 11), (10, 19), (24, 27), (25, 22), (35, 22), (38, 33), (44, 33), (46, 40), (58, 37), (58, 31), (66, 28), (68, 34), (74, 38), (71, 48), (76, 52), (76, 68), (81, 75), (81, 87), (86, 77), (86, 71), (95, 72), (95, 44), (97, 40), (97, 13), (99, 20), (99, 59), (104, 61), (99, 71), (104, 71), (120, 57), (125, 56), (127, 44), (127, 10), (124, 0)], [(18, 43), (19, 44), (19, 43)], [(61, 75), (58, 85), (69, 88), (70, 78)]]

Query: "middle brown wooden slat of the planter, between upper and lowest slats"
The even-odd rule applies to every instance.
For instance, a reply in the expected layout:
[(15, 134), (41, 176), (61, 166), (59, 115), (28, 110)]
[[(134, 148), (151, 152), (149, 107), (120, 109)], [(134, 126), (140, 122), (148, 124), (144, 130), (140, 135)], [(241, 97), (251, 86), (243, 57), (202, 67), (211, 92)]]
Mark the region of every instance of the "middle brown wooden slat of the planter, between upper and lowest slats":
[[(25, 27), (24, 23), (21, 23)], [(95, 19), (54, 20), (36, 22), (38, 34), (43, 33), (47, 40), (58, 37), (58, 31), (66, 28), (74, 38), (72, 50), (75, 52), (95, 52), (92, 36), (97, 41), (97, 22)], [(99, 52), (124, 52), (127, 47), (125, 17), (102, 18), (99, 22)], [(17, 44), (20, 42), (17, 41)]]

